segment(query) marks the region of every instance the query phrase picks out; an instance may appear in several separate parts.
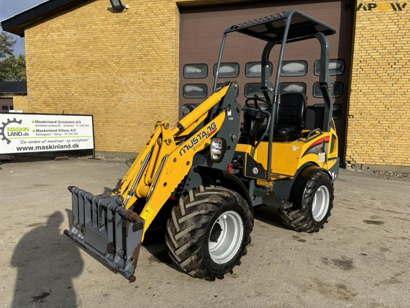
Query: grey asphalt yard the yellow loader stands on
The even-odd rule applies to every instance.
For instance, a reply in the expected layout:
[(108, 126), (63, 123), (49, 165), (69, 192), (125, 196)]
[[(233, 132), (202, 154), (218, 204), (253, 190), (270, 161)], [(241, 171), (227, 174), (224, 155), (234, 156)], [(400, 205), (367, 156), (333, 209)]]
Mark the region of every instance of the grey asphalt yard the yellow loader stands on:
[(101, 194), (130, 163), (73, 159), (0, 170), (0, 306), (409, 307), (410, 182), (341, 170), (332, 216), (315, 234), (255, 212), (248, 255), (214, 282), (180, 272), (162, 240), (143, 246), (137, 280), (109, 271), (63, 230), (68, 185)]

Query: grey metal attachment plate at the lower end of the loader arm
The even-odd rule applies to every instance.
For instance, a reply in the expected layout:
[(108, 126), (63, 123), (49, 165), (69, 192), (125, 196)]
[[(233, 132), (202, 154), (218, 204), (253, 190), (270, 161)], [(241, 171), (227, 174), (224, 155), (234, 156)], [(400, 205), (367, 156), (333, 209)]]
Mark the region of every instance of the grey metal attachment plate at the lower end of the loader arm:
[(73, 221), (64, 234), (98, 261), (135, 281), (144, 220), (124, 208), (120, 195), (94, 196), (69, 186), (72, 194)]

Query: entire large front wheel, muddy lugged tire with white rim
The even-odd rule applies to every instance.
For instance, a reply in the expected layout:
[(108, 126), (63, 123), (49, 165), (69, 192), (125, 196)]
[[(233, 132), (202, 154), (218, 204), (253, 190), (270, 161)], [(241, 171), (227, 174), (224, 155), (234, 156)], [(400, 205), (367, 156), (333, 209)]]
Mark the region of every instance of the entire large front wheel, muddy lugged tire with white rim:
[(191, 276), (223, 278), (247, 253), (252, 228), (249, 205), (237, 192), (200, 186), (172, 209), (168, 253)]

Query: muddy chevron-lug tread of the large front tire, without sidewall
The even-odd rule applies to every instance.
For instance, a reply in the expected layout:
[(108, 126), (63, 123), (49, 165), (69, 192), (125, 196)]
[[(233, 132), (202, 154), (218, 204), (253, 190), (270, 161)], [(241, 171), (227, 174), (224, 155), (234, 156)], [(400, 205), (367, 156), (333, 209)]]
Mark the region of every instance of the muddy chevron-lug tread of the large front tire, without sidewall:
[[(210, 221), (224, 202), (235, 202), (245, 209), (250, 219), (250, 232), (253, 229), (252, 214), (248, 203), (235, 191), (224, 187), (203, 187), (190, 190), (187, 196), (181, 196), (177, 205), (172, 208), (171, 217), (167, 221), (166, 244), (171, 259), (191, 276), (214, 280), (222, 279), (223, 274), (214, 273), (203, 261), (203, 237), (207, 233)], [(250, 238), (250, 235), (248, 235)], [(242, 243), (240, 258), (247, 254), (246, 246), (250, 239)], [(233, 267), (232, 266), (232, 267)]]

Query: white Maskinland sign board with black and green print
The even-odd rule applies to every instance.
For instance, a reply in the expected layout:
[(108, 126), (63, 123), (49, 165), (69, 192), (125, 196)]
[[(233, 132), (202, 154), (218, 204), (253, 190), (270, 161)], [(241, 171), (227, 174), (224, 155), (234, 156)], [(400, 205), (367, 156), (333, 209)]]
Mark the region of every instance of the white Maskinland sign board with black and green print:
[(92, 115), (0, 113), (0, 154), (94, 148)]

